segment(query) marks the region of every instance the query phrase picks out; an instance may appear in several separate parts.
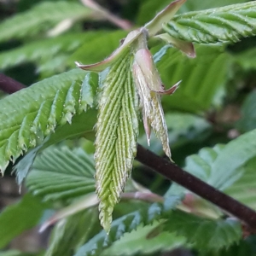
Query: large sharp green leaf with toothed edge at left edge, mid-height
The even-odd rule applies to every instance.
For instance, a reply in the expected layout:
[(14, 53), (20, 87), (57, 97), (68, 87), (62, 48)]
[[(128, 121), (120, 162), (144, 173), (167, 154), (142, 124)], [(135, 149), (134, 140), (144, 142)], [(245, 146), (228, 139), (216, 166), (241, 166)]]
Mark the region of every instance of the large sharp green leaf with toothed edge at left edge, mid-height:
[(9, 160), (14, 162), (20, 154), (42, 143), (56, 127), (71, 123), (74, 114), (92, 107), (95, 88), (90, 84), (95, 83), (92, 83), (90, 73), (81, 82), (83, 79), (84, 72), (75, 69), (33, 84), (0, 101), (2, 174)]

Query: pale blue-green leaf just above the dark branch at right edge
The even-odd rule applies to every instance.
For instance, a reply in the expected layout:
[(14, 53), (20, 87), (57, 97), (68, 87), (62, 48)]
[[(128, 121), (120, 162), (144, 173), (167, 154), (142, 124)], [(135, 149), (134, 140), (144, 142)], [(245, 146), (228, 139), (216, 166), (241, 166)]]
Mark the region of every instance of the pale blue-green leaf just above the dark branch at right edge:
[[(186, 158), (184, 169), (216, 189), (228, 189), (243, 176), (242, 167), (256, 157), (255, 136), (256, 130), (253, 130), (226, 145), (202, 148), (198, 154)], [(177, 195), (181, 191), (184, 189), (173, 184), (167, 195)]]

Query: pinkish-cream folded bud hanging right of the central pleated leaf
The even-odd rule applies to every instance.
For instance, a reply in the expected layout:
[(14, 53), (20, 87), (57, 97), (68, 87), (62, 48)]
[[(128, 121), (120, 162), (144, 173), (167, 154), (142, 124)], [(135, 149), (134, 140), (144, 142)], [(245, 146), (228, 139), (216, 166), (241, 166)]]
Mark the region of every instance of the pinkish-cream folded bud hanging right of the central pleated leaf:
[(139, 49), (134, 56), (133, 79), (135, 81), (140, 105), (143, 110), (143, 125), (150, 140), (150, 128), (152, 127), (156, 137), (163, 145), (166, 155), (171, 158), (168, 131), (160, 95), (172, 94), (180, 82), (174, 84), (169, 90), (165, 90), (160, 75), (154, 66), (153, 57), (148, 49)]

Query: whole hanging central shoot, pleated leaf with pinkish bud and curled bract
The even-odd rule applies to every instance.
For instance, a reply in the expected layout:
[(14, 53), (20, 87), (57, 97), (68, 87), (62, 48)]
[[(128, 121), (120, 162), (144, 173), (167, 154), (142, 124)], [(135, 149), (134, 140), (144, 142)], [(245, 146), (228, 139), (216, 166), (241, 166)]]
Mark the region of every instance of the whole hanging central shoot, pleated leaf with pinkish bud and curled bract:
[(130, 32), (119, 49), (104, 61), (77, 65), (95, 72), (109, 68), (99, 96), (95, 153), (100, 220), (108, 232), (113, 207), (119, 201), (137, 154), (138, 96), (148, 143), (152, 127), (166, 155), (171, 158), (160, 95), (172, 94), (177, 84), (164, 90), (152, 55), (147, 49), (147, 31), (144, 28)]

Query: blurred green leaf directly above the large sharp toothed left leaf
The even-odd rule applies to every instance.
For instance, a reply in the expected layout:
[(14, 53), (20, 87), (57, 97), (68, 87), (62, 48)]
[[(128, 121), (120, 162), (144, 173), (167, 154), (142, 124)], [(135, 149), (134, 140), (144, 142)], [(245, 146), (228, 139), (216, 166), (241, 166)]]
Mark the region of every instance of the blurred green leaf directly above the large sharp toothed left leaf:
[[(0, 68), (9, 68), (19, 65), (26, 61), (35, 61), (39, 65), (38, 69), (46, 61), (54, 61), (56, 55), (63, 55), (63, 53), (71, 53), (73, 50), (79, 48), (85, 40), (90, 39), (90, 35), (95, 33), (86, 32), (70, 33), (59, 36), (57, 38), (47, 38), (40, 41), (28, 43), (15, 49), (3, 51), (0, 54)], [(97, 33), (96, 33), (97, 35)], [(65, 63), (62, 63), (65, 66)], [(74, 67), (74, 63), (73, 63)]]

